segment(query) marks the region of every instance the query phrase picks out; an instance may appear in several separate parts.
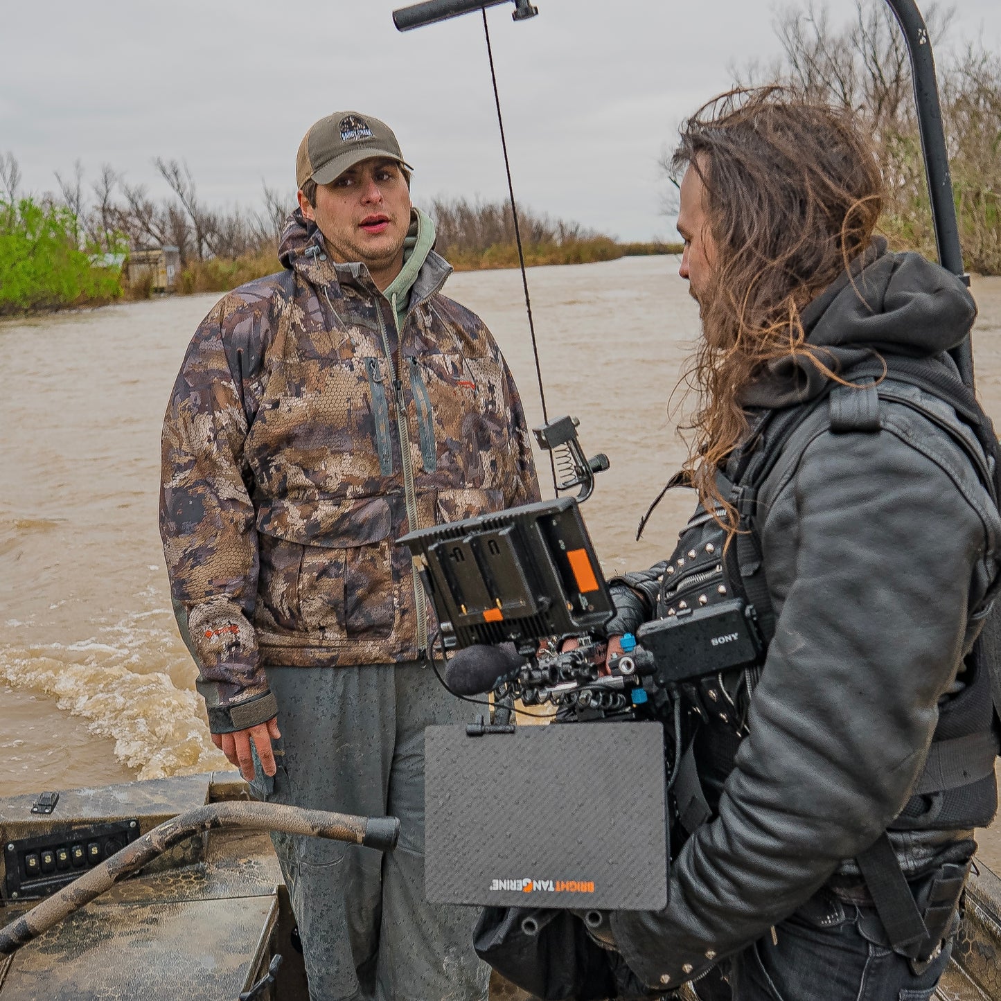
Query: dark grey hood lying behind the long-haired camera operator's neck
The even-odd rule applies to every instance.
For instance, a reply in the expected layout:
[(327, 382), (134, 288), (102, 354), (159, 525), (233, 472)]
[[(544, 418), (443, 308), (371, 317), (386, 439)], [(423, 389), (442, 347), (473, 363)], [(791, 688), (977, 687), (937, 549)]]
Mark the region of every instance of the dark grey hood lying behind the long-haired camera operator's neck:
[[(976, 303), (954, 274), (880, 237), (803, 310), (807, 343), (835, 371), (880, 354), (941, 355), (963, 342)], [(828, 381), (808, 356), (777, 358), (744, 388), (748, 406), (779, 409), (817, 396)]]

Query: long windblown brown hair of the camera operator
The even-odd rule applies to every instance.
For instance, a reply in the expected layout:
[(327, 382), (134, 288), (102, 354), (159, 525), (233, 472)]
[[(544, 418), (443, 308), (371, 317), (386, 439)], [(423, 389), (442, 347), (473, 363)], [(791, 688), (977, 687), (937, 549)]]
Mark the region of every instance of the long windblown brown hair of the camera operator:
[(682, 126), (671, 165), (702, 179), (716, 249), (688, 373), (699, 408), (685, 467), (707, 511), (727, 511), (733, 533), (736, 512), (715, 470), (748, 433), (742, 390), (766, 362), (794, 355), (838, 377), (827, 352), (806, 342), (800, 312), (868, 245), (883, 179), (849, 112), (778, 87), (704, 105)]

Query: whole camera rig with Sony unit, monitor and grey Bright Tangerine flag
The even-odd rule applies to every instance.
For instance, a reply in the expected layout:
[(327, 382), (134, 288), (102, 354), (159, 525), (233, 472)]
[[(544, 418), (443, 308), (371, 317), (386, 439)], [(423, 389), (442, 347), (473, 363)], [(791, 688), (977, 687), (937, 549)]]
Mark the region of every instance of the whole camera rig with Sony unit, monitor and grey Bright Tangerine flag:
[[(435, 903), (667, 906), (682, 689), (760, 658), (734, 600), (647, 623), (606, 665), (615, 607), (579, 500), (608, 460), (585, 458), (575, 424), (564, 417), (536, 435), (556, 451), (561, 489), (581, 486), (579, 497), (399, 541), (437, 614), (447, 687), (484, 706), (493, 696), (491, 722), (426, 731), (425, 889)], [(568, 639), (577, 645), (564, 650)]]

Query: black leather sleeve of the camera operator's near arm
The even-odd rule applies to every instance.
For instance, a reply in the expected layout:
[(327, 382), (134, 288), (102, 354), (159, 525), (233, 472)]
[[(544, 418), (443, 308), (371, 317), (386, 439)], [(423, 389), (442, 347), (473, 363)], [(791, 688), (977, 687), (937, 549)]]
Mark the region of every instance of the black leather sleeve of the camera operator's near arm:
[(750, 736), (718, 817), (675, 861), (668, 909), (612, 919), (650, 984), (698, 976), (789, 917), (922, 771), (997, 529), (959, 448), (893, 409), (877, 433), (821, 433), (761, 497), (778, 620)]

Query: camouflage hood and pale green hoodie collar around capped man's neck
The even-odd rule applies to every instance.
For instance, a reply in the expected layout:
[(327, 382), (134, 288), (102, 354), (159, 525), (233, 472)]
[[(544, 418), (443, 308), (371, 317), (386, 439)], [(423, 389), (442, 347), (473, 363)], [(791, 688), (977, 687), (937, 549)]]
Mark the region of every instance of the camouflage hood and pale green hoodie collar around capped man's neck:
[[(451, 273), (451, 265), (434, 252), (434, 220), (423, 210), (413, 208), (403, 241), (403, 267), (380, 293), (387, 302), (392, 302), (395, 296), (399, 325), (403, 322), (410, 291), (415, 290), (418, 297), (423, 298), (439, 289)], [(374, 288), (364, 264), (357, 261), (331, 264), (319, 227), (311, 219), (306, 219), (298, 208), (285, 219), (278, 243), (278, 259), (283, 267), (298, 271), (312, 284), (322, 283), (325, 278), (360, 285), (367, 291)]]

